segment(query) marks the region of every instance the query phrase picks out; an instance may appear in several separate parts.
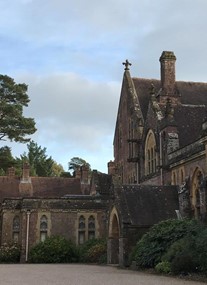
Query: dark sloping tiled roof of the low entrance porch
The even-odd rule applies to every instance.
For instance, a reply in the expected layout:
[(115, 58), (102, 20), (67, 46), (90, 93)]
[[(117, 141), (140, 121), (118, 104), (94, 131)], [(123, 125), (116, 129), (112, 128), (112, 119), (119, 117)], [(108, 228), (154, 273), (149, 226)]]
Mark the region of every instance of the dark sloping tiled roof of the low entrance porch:
[(124, 185), (115, 189), (122, 222), (132, 226), (151, 226), (176, 218), (179, 209), (176, 186)]

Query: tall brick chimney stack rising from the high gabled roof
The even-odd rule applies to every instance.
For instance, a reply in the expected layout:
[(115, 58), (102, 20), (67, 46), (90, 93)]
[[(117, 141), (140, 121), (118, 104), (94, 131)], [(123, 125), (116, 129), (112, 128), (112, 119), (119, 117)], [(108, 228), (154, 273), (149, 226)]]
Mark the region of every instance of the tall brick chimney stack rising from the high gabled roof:
[(172, 51), (163, 51), (160, 57), (161, 88), (163, 96), (173, 96), (175, 87), (175, 61), (176, 57)]

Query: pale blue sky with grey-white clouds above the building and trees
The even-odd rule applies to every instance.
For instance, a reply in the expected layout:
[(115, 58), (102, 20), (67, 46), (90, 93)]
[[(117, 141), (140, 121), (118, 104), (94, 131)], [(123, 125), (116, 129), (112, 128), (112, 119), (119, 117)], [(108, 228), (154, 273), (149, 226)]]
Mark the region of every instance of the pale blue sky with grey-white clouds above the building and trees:
[(107, 172), (122, 62), (159, 79), (172, 50), (177, 80), (207, 82), (206, 13), (206, 0), (0, 0), (0, 73), (28, 85), (32, 139), (65, 170), (78, 156)]

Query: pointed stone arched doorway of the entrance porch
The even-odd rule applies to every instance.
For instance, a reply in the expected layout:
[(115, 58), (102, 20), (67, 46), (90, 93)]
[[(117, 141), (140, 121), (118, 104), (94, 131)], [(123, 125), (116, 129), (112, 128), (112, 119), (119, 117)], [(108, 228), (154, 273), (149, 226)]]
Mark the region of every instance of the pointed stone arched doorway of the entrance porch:
[(119, 264), (119, 237), (119, 218), (117, 210), (114, 207), (111, 211), (109, 218), (109, 234), (107, 245), (107, 255), (109, 264)]

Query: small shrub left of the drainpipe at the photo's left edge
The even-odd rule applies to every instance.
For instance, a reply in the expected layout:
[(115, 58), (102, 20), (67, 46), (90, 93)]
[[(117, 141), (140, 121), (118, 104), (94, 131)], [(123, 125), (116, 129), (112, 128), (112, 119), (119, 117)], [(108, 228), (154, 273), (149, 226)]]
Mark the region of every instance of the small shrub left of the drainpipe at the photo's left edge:
[(17, 244), (4, 244), (0, 247), (1, 263), (16, 263), (20, 261), (20, 247)]

